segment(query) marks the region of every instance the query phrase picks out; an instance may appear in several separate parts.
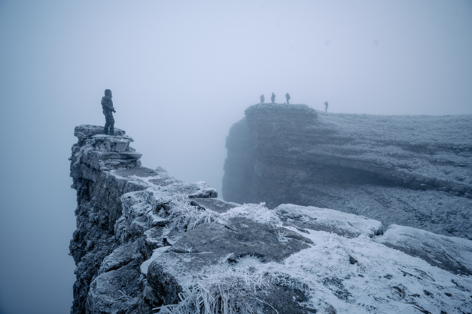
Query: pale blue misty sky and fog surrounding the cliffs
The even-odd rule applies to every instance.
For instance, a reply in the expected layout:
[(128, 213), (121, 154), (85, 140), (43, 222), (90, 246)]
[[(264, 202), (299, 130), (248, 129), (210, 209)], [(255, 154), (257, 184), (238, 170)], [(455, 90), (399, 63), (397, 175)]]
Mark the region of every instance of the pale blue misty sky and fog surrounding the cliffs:
[(0, 0), (0, 313), (68, 313), (70, 147), (115, 126), (144, 166), (221, 190), (244, 109), (472, 114), (472, 1)]

